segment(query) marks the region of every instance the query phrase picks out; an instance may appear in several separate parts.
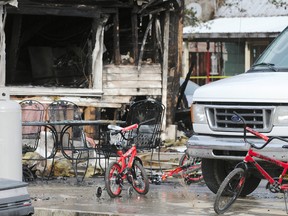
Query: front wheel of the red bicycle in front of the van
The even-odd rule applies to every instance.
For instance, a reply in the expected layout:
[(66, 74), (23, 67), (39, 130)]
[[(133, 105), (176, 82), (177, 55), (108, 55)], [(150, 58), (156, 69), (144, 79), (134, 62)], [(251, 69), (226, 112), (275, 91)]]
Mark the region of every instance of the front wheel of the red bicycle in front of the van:
[(245, 183), (245, 171), (242, 168), (235, 168), (224, 179), (217, 191), (214, 202), (214, 211), (223, 214), (239, 197)]

